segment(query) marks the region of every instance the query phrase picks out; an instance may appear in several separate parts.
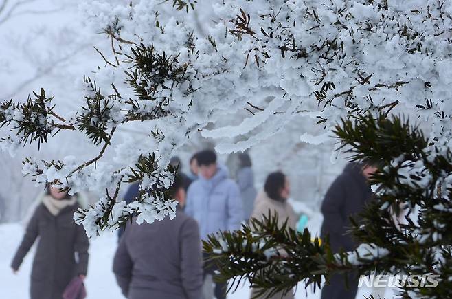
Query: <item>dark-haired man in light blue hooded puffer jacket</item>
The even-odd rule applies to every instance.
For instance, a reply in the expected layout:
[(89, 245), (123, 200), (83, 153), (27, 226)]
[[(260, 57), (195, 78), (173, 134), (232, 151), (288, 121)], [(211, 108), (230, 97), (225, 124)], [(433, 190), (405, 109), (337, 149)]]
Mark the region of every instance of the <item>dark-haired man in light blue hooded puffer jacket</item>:
[[(218, 231), (238, 230), (243, 208), (237, 184), (228, 178), (227, 169), (217, 164), (214, 151), (201, 151), (196, 154), (196, 160), (199, 179), (188, 188), (185, 212), (198, 221), (201, 239)], [(205, 263), (204, 276), (214, 274), (215, 270), (213, 263)], [(214, 294), (217, 299), (226, 298), (226, 285), (216, 283)]]

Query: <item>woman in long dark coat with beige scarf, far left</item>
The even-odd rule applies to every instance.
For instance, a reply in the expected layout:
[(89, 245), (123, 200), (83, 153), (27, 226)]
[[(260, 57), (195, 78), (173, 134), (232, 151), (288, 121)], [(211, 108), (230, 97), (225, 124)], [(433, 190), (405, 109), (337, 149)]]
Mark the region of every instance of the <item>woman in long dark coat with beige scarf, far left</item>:
[(84, 279), (88, 268), (89, 239), (82, 225), (76, 225), (73, 219), (79, 208), (76, 197), (52, 186), (47, 190), (11, 263), (16, 273), (39, 237), (32, 267), (32, 299), (62, 299), (72, 278)]

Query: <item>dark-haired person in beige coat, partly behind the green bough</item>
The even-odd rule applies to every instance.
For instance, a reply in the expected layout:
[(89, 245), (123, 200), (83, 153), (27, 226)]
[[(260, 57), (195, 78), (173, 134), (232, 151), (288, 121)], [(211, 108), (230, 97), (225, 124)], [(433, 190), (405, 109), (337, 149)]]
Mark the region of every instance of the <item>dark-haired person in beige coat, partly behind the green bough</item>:
[[(287, 229), (295, 230), (297, 217), (291, 204), (287, 201), (290, 195), (289, 179), (281, 172), (271, 173), (264, 184), (264, 190), (258, 193), (254, 203), (254, 210), (251, 218), (262, 219), (264, 216), (278, 214), (278, 226), (282, 227), (287, 221)], [(251, 291), (251, 298), (256, 296), (257, 290)], [(267, 298), (265, 295), (260, 298)], [(269, 299), (293, 299), (293, 291), (286, 295), (282, 293), (275, 294)]]

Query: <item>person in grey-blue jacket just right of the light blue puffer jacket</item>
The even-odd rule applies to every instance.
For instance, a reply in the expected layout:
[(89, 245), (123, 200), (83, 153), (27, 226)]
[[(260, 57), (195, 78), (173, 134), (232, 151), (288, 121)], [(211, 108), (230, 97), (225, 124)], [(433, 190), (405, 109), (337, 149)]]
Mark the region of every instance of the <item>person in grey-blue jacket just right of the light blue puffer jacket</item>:
[(237, 170), (236, 179), (242, 197), (243, 216), (245, 221), (249, 220), (254, 208), (254, 199), (256, 199), (256, 188), (254, 188), (254, 174), (251, 169), (251, 158), (247, 153), (238, 155), (240, 162)]

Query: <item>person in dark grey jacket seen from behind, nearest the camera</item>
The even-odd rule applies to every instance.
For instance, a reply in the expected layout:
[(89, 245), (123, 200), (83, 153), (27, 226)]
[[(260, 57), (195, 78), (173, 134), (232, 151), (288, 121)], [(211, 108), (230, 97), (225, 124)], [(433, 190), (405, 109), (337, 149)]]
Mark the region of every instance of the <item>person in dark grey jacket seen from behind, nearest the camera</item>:
[(138, 225), (120, 239), (113, 272), (128, 299), (200, 299), (203, 286), (198, 224), (181, 210), (185, 190), (179, 177), (172, 186), (179, 201), (176, 217)]

